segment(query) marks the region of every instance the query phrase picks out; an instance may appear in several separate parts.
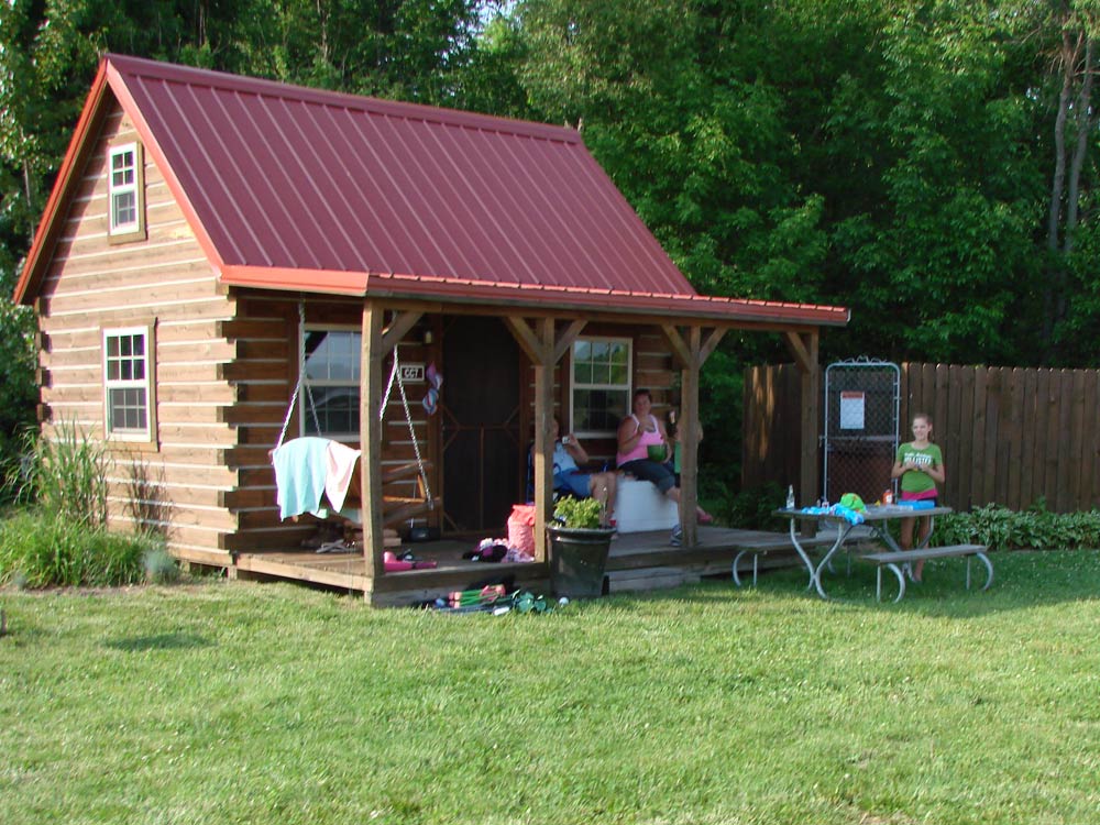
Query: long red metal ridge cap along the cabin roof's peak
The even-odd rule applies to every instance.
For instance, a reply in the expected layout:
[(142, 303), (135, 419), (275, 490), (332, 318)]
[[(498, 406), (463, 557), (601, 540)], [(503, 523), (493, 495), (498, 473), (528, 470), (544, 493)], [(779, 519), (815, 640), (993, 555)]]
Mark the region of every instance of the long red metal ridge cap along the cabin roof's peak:
[(168, 82), (190, 82), (196, 86), (232, 89), (251, 95), (290, 98), (318, 106), (339, 106), (344, 109), (355, 109), (443, 125), (481, 129), (490, 132), (501, 132), (561, 143), (581, 143), (581, 135), (575, 129), (556, 127), (530, 120), (504, 118), (497, 114), (483, 114), (481, 112), (429, 106), (427, 103), (413, 103), (404, 100), (387, 100), (370, 95), (355, 95), (350, 91), (319, 89), (311, 86), (301, 86), (300, 84), (285, 82), (283, 80), (272, 80), (266, 77), (235, 75), (229, 72), (153, 61), (146, 57), (133, 57), (131, 55), (109, 53), (103, 55), (103, 61), (114, 66), (119, 74), (123, 76), (134, 74)]

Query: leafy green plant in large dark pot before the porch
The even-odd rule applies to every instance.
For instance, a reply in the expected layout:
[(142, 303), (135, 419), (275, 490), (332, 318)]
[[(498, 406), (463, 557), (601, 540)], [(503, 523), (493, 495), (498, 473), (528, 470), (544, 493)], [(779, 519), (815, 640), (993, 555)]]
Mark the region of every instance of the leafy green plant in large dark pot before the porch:
[(614, 528), (601, 527), (603, 506), (595, 498), (558, 502), (550, 536), (550, 583), (556, 596), (600, 596)]

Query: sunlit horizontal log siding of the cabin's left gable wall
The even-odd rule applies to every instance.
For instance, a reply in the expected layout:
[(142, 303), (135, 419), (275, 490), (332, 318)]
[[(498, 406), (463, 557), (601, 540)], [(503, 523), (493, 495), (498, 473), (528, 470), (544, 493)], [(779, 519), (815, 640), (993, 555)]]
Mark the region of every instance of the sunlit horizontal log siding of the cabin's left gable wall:
[[(107, 157), (136, 140), (120, 110), (107, 118), (42, 286), (42, 400), (53, 422), (75, 421), (103, 436), (102, 329), (155, 324), (157, 440), (114, 442), (110, 509), (129, 524), (135, 463), (147, 466), (148, 492), (162, 501), (168, 547), (179, 558), (228, 562), (238, 516), (227, 502), (237, 473), (227, 460), (238, 446), (238, 356), (222, 327), (235, 314), (172, 197), (145, 154), (146, 239), (108, 237)], [(285, 392), (285, 380), (279, 391)], [(48, 425), (46, 427), (48, 431)], [(154, 510), (155, 512), (155, 510)]]

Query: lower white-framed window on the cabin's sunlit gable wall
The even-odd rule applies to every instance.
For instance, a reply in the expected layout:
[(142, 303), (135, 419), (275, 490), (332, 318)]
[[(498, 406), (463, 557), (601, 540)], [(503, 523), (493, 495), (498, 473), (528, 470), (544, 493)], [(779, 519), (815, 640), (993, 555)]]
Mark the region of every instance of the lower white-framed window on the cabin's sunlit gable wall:
[(148, 327), (103, 330), (103, 403), (107, 435), (152, 437), (152, 355)]

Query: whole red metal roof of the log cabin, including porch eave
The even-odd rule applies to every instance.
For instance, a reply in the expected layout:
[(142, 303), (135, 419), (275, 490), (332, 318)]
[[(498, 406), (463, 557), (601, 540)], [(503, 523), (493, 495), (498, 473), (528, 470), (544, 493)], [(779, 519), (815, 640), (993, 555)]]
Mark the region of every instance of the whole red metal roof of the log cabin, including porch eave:
[(846, 309), (697, 296), (569, 129), (109, 55), (16, 288), (107, 85), (228, 284), (600, 306), (747, 322)]

